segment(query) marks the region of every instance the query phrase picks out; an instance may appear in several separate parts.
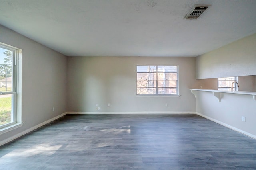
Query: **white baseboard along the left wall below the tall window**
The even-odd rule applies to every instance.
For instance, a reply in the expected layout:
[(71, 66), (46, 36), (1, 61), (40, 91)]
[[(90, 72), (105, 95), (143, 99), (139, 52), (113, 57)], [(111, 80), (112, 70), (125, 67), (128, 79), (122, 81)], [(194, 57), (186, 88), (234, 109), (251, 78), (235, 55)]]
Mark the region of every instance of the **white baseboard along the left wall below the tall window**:
[(40, 124), (38, 124), (38, 125), (36, 125), (36, 126), (34, 126), (34, 127), (31, 127), (31, 128), (29, 128), (29, 129), (27, 129), (26, 131), (23, 131), (23, 132), (18, 133), (18, 134), (16, 134), (16, 135), (12, 136), (12, 137), (9, 137), (9, 138), (7, 138), (7, 139), (5, 139), (5, 140), (3, 140), (3, 141), (0, 141), (0, 146), (1, 146), (1, 145), (4, 145), (4, 144), (6, 144), (6, 143), (8, 143), (8, 142), (10, 142), (10, 141), (12, 141), (12, 140), (14, 140), (14, 139), (17, 139), (18, 137), (21, 137), (21, 136), (25, 135), (26, 133), (29, 133), (29, 132), (31, 132), (31, 131), (34, 131), (35, 129), (37, 129), (37, 128), (43, 126), (43, 125), (46, 125), (47, 123), (50, 123), (51, 121), (54, 121), (55, 119), (58, 119), (58, 118), (60, 118), (60, 117), (62, 117), (62, 116), (64, 116), (64, 115), (66, 115), (66, 114), (67, 114), (67, 113), (62, 113), (61, 115), (58, 115), (58, 116), (56, 116), (56, 117), (53, 117), (52, 119), (49, 119), (49, 120), (47, 120), (47, 121), (44, 121), (43, 123), (40, 123)]

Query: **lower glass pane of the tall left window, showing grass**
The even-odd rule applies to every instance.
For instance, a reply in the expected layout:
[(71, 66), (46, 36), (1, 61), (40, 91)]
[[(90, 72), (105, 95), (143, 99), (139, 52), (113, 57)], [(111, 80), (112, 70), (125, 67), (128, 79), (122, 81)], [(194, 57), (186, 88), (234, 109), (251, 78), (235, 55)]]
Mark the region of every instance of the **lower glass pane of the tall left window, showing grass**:
[(0, 95), (0, 125), (12, 122), (12, 94)]

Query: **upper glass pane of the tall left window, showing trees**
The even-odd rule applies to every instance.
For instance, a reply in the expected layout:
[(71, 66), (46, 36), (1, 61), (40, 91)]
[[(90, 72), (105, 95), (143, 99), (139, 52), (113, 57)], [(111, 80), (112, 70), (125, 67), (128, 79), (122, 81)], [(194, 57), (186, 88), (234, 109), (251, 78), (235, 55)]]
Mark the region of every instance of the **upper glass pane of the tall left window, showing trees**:
[(0, 92), (12, 91), (12, 51), (0, 47)]

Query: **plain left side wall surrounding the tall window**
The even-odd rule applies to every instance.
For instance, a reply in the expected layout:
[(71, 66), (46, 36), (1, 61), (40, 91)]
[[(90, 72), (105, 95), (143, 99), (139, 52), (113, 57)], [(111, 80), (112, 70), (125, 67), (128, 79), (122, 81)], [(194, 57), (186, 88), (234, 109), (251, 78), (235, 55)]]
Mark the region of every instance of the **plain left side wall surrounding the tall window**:
[(0, 42), (22, 49), (24, 124), (0, 135), (3, 141), (67, 111), (67, 57), (1, 25)]

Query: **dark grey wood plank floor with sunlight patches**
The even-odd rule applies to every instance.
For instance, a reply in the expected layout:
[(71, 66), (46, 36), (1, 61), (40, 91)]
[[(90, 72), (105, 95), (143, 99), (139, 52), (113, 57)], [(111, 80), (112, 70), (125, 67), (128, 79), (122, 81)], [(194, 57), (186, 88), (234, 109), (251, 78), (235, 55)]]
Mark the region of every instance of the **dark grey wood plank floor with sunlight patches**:
[(256, 140), (198, 115), (65, 115), (0, 147), (1, 170), (256, 169)]

